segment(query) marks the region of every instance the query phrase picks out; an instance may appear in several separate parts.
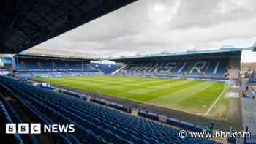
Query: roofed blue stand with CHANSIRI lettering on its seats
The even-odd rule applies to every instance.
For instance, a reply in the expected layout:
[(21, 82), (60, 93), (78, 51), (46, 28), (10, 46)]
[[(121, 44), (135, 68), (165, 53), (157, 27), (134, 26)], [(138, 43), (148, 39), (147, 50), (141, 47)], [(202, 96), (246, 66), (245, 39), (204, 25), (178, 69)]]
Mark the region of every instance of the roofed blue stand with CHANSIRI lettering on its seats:
[(252, 48), (226, 48), (181, 53), (109, 58), (122, 63), (114, 75), (178, 77), (185, 79), (239, 79), (241, 51)]

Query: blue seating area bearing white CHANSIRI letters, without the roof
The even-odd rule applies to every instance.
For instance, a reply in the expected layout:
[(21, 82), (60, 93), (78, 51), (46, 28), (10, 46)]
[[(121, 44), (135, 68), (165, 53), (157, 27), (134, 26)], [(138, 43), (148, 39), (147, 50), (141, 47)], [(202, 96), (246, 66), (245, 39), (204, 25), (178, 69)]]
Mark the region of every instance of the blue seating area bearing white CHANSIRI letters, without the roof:
[(129, 63), (118, 74), (123, 75), (159, 75), (170, 77), (227, 78), (229, 70), (227, 59), (197, 59), (192, 61), (168, 61)]

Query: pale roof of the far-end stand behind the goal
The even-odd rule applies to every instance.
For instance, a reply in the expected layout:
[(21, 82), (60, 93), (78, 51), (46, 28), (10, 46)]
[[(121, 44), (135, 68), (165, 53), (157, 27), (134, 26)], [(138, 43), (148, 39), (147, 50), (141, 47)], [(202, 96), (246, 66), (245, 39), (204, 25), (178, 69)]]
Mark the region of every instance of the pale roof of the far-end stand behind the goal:
[(102, 56), (83, 53), (78, 50), (54, 50), (49, 48), (30, 48), (18, 53), (17, 56), (40, 56), (40, 57), (53, 57), (53, 58), (76, 58), (76, 59), (88, 59), (99, 60)]

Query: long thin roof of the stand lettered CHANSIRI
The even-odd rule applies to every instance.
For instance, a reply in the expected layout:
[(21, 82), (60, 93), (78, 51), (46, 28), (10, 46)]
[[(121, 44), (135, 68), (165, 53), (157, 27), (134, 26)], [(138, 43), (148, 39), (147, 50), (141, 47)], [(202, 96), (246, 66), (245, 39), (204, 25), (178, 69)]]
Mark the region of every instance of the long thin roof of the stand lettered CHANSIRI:
[(177, 53), (158, 53), (158, 54), (149, 54), (149, 55), (137, 55), (137, 56), (121, 56), (119, 58), (106, 58), (105, 60), (110, 61), (127, 61), (127, 60), (136, 60), (136, 59), (147, 59), (147, 58), (173, 58), (177, 56), (222, 56), (227, 53), (237, 53), (242, 50), (253, 50), (254, 47), (248, 48), (222, 48), (222, 49), (214, 49), (214, 50), (187, 50), (186, 52), (177, 52)]

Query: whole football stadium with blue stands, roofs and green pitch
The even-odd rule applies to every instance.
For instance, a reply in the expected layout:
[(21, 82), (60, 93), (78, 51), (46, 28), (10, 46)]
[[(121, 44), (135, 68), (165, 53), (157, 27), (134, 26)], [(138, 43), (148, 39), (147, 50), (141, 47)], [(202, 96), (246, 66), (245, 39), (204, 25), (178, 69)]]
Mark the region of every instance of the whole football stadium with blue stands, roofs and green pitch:
[(256, 143), (256, 69), (241, 70), (256, 45), (109, 58), (39, 48), (135, 1), (4, 2), (2, 143)]

